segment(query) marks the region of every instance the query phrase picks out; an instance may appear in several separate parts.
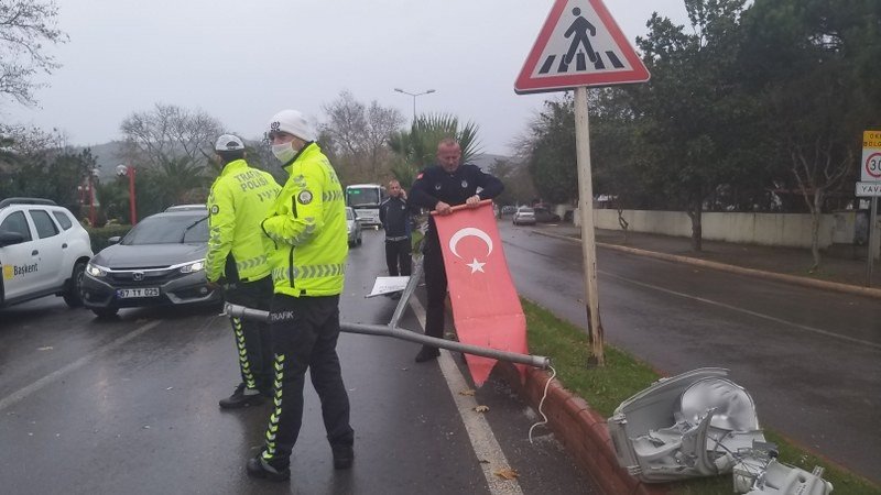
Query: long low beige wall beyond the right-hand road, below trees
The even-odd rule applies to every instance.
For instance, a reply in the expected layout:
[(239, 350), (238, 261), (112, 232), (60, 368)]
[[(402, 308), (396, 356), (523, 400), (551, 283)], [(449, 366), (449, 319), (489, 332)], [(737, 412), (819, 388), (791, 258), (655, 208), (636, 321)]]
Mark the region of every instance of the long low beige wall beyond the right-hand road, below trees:
[[(622, 216), (634, 232), (692, 237), (692, 220), (682, 211), (624, 210)], [(578, 222), (578, 212), (573, 216)], [(703, 216), (704, 239), (743, 244), (811, 248), (811, 215), (807, 213), (730, 213), (709, 212)], [(598, 229), (620, 230), (618, 211), (595, 209)], [(819, 246), (852, 244), (856, 233), (855, 211), (827, 213), (820, 217)], [(881, 237), (881, 221), (874, 229)]]

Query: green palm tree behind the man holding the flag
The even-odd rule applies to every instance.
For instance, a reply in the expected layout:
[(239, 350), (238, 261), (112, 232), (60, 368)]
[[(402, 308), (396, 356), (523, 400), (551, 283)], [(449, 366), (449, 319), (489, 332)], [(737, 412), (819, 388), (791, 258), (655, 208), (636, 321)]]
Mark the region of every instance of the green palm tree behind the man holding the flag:
[(418, 170), (434, 163), (437, 143), (445, 138), (458, 141), (461, 161), (468, 162), (480, 153), (478, 129), (474, 122), (459, 129), (459, 120), (450, 114), (420, 116), (409, 132), (401, 131), (389, 138), (389, 147), (396, 157), (392, 174), (403, 187), (410, 187)]

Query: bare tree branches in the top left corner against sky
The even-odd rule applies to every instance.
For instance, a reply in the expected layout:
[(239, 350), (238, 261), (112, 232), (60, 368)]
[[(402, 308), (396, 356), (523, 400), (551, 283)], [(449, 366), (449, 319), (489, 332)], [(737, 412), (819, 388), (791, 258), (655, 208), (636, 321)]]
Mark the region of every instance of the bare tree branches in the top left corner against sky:
[(52, 74), (61, 64), (43, 51), (43, 43), (65, 43), (68, 37), (55, 28), (58, 7), (54, 1), (0, 0), (0, 94), (19, 103), (36, 105), (37, 73)]

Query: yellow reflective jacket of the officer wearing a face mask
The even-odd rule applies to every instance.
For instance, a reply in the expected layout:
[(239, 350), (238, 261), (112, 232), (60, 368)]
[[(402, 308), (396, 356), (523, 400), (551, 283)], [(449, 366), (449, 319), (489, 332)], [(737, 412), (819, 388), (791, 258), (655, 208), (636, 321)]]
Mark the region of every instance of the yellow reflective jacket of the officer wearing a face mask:
[(349, 244), (337, 174), (316, 143), (306, 144), (285, 170), (290, 177), (262, 223), (275, 294), (338, 295)]

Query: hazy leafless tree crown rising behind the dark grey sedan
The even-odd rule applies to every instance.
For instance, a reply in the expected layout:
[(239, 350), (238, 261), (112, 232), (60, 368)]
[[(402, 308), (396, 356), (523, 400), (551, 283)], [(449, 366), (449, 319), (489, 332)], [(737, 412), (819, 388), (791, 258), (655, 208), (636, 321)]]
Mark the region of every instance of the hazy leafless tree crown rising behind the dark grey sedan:
[(120, 124), (126, 135), (123, 158), (151, 167), (178, 157), (205, 164), (222, 129), (219, 120), (202, 110), (156, 103), (153, 110), (134, 112)]

